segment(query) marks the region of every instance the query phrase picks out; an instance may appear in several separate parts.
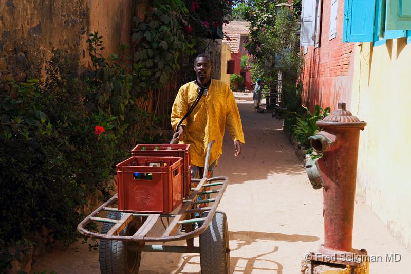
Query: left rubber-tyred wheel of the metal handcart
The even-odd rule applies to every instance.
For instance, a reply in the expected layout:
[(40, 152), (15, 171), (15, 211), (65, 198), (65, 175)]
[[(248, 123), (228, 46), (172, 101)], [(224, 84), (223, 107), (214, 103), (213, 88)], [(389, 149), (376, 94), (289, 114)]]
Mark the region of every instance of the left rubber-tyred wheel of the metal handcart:
[[(124, 213), (110, 212), (106, 218), (120, 220)], [(130, 236), (136, 233), (144, 223), (143, 218), (135, 217), (133, 222), (129, 223), (120, 235)], [(107, 233), (114, 224), (104, 223), (101, 233)], [(137, 245), (136, 242), (123, 242), (100, 240), (100, 271), (102, 274), (130, 274), (138, 273), (140, 268), (141, 253), (138, 251), (127, 250), (127, 245)], [(141, 243), (144, 244), (144, 243)], [(140, 245), (141, 245), (140, 244)]]

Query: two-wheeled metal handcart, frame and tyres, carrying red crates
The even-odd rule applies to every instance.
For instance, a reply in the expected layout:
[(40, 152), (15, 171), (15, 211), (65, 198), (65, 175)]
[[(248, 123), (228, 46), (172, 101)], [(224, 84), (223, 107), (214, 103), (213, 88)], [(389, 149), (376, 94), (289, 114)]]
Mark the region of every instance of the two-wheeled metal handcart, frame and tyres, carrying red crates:
[[(156, 214), (124, 212), (114, 205), (117, 194), (88, 215), (77, 227), (81, 234), (100, 240), (100, 270), (106, 273), (138, 273), (141, 252), (199, 253), (201, 273), (229, 273), (230, 248), (226, 214), (217, 211), (218, 204), (228, 185), (228, 177), (207, 178), (208, 162), (212, 141), (207, 148), (202, 179), (192, 188), (191, 194), (182, 200), (177, 213)], [(211, 198), (209, 195), (216, 195)], [(208, 195), (207, 199), (198, 199)], [(206, 207), (199, 207), (206, 205)], [(176, 211), (177, 211), (176, 210)], [(166, 218), (167, 225), (163, 222)], [(171, 222), (168, 222), (171, 218)], [(164, 231), (152, 235), (153, 227), (161, 220)], [(101, 233), (85, 227), (91, 222), (103, 222)], [(194, 223), (200, 226), (194, 229)], [(185, 232), (180, 228), (184, 226)], [(199, 236), (199, 246), (194, 246), (194, 238)], [(165, 242), (186, 240), (186, 245), (176, 246)], [(150, 242), (150, 244), (145, 244)], [(151, 244), (161, 243), (161, 244)]]

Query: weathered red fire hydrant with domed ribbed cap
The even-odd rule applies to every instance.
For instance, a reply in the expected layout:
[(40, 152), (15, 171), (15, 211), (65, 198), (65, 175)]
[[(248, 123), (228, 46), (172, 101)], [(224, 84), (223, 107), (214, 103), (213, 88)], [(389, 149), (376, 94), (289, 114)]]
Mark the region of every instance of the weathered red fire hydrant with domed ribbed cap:
[(339, 103), (337, 110), (316, 124), (323, 131), (309, 137), (310, 144), (323, 156), (308, 160), (306, 171), (314, 189), (324, 189), (325, 235), (319, 252), (337, 254), (339, 261), (358, 253), (352, 249), (352, 225), (358, 144), (366, 123), (346, 111), (345, 103)]

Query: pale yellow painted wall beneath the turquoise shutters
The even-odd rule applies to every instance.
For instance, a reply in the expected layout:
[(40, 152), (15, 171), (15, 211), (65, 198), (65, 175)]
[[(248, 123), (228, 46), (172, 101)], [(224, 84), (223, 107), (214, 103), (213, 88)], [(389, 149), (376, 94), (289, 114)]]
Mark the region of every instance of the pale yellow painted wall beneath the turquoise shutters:
[(405, 38), (354, 50), (353, 115), (360, 133), (357, 195), (411, 249), (411, 44)]

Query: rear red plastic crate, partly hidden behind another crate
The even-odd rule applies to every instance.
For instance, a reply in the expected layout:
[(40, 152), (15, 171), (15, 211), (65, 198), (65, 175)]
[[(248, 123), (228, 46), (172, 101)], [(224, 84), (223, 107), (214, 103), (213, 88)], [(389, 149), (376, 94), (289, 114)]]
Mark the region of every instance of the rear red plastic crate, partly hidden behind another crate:
[[(142, 150), (143, 147), (145, 147), (146, 150)], [(158, 150), (154, 150), (156, 147)], [(168, 150), (168, 148), (171, 148), (171, 150)], [(190, 195), (190, 144), (138, 144), (134, 149), (132, 149), (132, 156), (168, 156), (183, 158), (183, 196), (187, 197)]]

